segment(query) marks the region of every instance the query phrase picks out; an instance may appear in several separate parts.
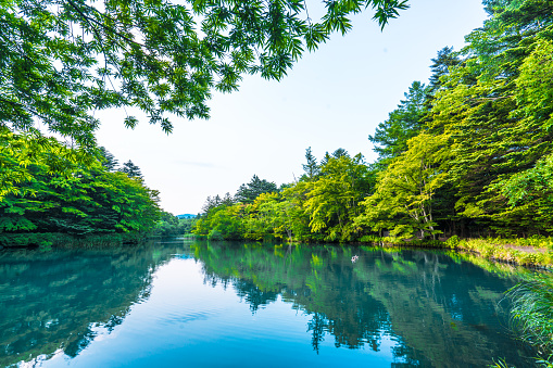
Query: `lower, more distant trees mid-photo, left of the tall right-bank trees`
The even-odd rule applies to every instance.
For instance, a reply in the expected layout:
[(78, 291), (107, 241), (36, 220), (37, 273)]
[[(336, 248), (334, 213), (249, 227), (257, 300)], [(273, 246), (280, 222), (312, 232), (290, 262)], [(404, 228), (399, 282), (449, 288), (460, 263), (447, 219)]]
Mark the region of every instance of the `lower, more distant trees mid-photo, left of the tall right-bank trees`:
[[(309, 160), (316, 163), (314, 157)], [(218, 195), (208, 198), (192, 232), (209, 237), (217, 230), (223, 239), (256, 241), (356, 239), (360, 229), (353, 218), (360, 214), (359, 202), (374, 187), (374, 174), (361, 154), (351, 157), (344, 150), (335, 151), (316, 167), (317, 174), (305, 175), (281, 193), (274, 183), (254, 176), (238, 190), (237, 204), (224, 203)]]

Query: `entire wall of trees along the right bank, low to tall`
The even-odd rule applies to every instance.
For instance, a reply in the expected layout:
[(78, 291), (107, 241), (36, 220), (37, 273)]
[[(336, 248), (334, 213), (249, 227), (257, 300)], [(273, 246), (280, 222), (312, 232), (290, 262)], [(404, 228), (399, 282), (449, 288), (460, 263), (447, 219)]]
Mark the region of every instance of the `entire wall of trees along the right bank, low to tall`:
[(428, 84), (368, 137), (378, 160), (343, 149), (280, 188), (253, 176), (209, 198), (209, 239), (370, 241), (540, 237), (553, 231), (553, 2), (483, 1), (461, 51), (440, 50)]

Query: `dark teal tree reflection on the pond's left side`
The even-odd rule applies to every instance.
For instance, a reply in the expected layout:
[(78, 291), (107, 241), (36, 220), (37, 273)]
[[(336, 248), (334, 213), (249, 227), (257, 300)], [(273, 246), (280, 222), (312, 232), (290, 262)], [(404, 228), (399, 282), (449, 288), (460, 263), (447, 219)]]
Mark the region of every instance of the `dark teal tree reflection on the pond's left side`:
[[(180, 245), (181, 246), (181, 245)], [(149, 296), (151, 277), (175, 245), (104, 251), (10, 251), (0, 255), (0, 366), (77, 356), (99, 327), (111, 332)]]

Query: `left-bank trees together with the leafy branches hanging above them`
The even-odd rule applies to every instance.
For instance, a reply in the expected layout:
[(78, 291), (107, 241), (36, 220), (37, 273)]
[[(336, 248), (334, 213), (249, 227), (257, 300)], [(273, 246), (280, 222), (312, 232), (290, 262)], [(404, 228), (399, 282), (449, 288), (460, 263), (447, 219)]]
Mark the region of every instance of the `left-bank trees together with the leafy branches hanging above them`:
[(323, 5), (315, 20), (297, 0), (2, 1), (0, 248), (189, 231), (189, 220), (161, 211), (131, 161), (116, 167), (99, 147), (96, 112), (118, 109), (134, 128), (138, 111), (171, 134), (168, 115), (209, 118), (212, 93), (236, 91), (243, 75), (280, 80), (305, 51), (351, 29), (363, 9), (384, 27), (409, 8)]

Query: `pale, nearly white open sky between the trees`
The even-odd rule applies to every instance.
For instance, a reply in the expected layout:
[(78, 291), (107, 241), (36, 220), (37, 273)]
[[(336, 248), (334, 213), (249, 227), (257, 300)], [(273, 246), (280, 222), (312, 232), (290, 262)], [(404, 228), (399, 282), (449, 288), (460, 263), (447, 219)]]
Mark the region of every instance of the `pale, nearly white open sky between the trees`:
[(305, 53), (280, 81), (246, 76), (238, 91), (214, 92), (208, 120), (169, 116), (171, 135), (144, 115), (130, 130), (123, 111), (97, 113), (98, 143), (120, 163), (138, 165), (162, 208), (175, 215), (200, 213), (208, 195), (232, 195), (253, 175), (277, 186), (294, 181), (309, 147), (318, 160), (342, 148), (374, 162), (367, 137), (414, 80), (428, 83), (438, 50), (460, 50), (486, 18), (481, 0), (410, 4), (382, 31), (369, 11), (355, 15), (350, 33)]

